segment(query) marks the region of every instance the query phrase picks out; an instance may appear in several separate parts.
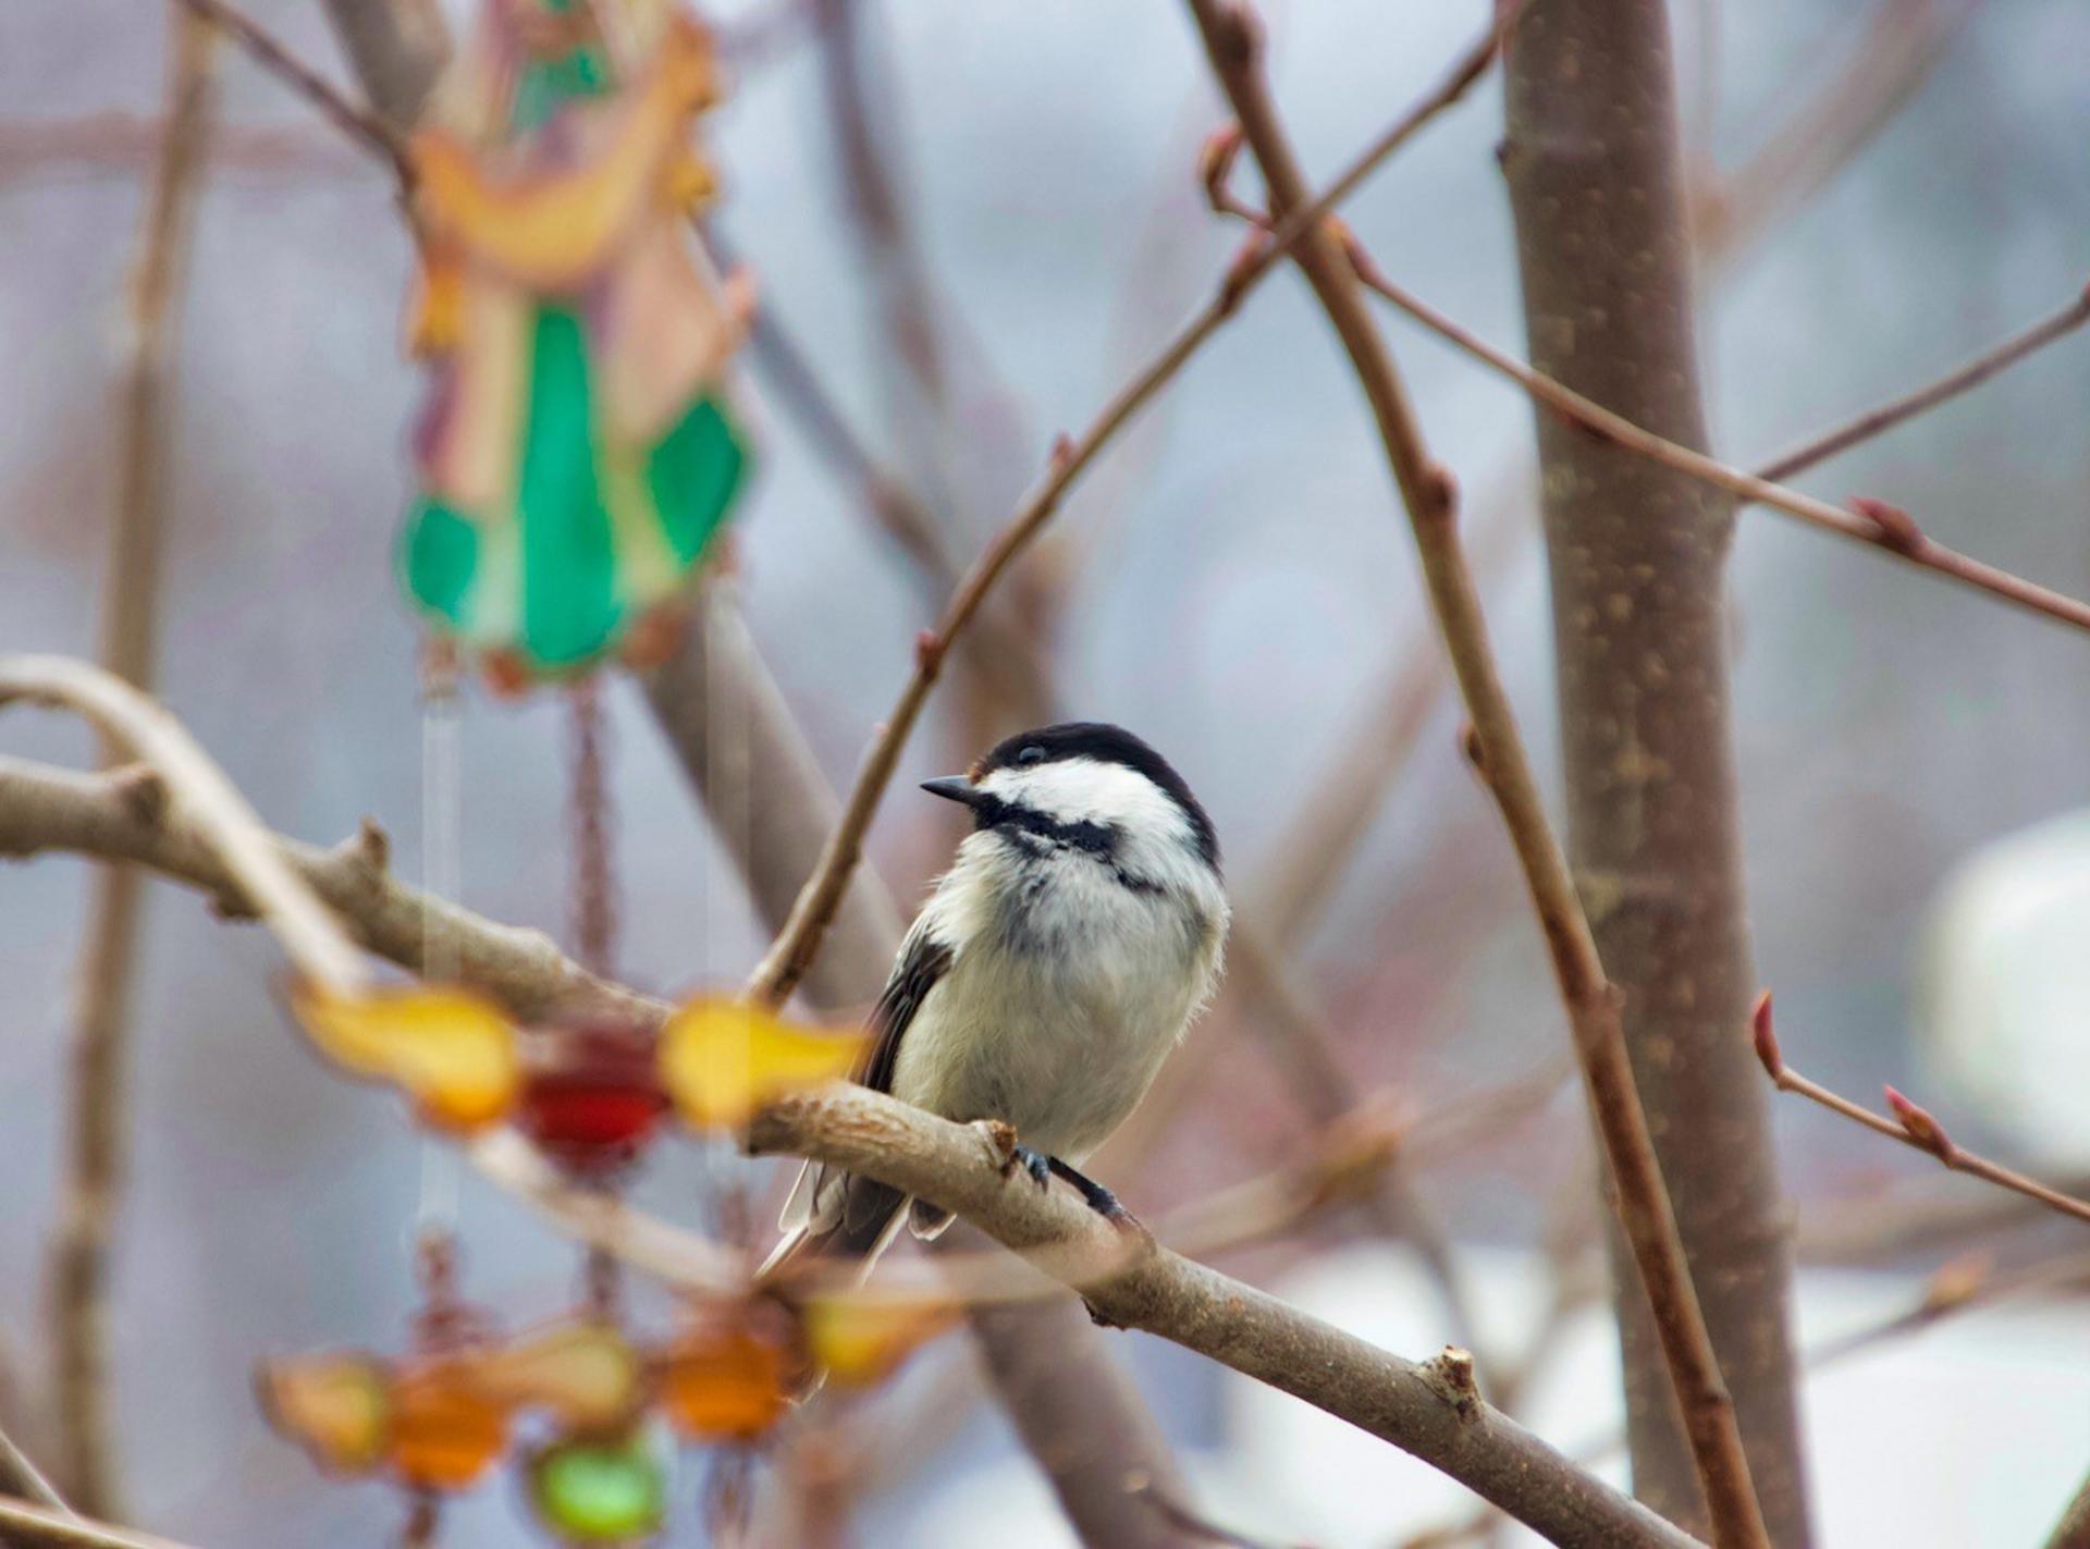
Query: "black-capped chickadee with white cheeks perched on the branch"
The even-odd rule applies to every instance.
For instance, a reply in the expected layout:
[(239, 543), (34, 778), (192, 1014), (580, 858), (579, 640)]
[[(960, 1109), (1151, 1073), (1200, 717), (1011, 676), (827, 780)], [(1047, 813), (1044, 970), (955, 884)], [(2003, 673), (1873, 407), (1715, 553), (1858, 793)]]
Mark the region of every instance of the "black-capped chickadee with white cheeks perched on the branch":
[[(872, 1012), (874, 1091), (1016, 1129), (1041, 1187), (1058, 1173), (1104, 1215), (1076, 1169), (1139, 1106), (1218, 980), (1227, 895), (1212, 819), (1131, 732), (1070, 721), (1001, 742), (924, 790), (972, 809)], [(907, 1198), (809, 1162), (763, 1273), (805, 1254), (876, 1258)], [(949, 1217), (926, 1200), (915, 1235)]]

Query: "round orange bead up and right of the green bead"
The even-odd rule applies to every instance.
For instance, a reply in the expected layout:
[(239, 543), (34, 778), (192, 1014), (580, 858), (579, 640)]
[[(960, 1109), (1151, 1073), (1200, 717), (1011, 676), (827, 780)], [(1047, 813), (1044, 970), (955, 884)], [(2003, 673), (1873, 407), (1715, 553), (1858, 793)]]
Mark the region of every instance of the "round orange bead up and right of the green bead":
[(803, 1386), (805, 1353), (790, 1313), (767, 1298), (692, 1313), (660, 1361), (660, 1407), (694, 1442), (765, 1436)]

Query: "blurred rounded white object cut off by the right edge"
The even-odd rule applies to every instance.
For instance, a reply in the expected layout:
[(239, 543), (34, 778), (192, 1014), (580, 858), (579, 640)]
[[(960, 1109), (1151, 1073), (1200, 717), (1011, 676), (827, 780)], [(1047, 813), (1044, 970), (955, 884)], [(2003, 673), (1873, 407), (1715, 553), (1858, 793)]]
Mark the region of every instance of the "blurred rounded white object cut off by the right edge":
[[(1937, 893), (1917, 993), (1940, 1085), (2048, 1166), (2090, 1164), (2090, 811), (1988, 845)], [(1919, 1097), (1921, 1102), (1921, 1097)], [(1950, 1123), (1948, 1123), (1950, 1129)]]

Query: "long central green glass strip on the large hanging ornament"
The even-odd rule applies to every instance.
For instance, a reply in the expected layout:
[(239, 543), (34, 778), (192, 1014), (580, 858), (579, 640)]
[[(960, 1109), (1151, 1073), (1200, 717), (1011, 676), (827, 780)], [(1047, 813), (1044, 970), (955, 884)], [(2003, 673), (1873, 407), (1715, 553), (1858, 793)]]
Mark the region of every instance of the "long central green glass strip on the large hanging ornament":
[(522, 433), (522, 650), (548, 667), (587, 661), (623, 617), (610, 514), (596, 485), (587, 339), (566, 307), (539, 307)]

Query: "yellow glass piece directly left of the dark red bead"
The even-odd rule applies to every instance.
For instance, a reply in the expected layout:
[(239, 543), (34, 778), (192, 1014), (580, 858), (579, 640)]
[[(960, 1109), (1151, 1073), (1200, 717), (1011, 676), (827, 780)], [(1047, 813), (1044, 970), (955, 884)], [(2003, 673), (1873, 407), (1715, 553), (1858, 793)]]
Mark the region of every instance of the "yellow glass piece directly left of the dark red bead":
[(293, 1008), (320, 1054), (399, 1087), (437, 1129), (472, 1131), (504, 1118), (522, 1085), (514, 1028), (472, 991), (408, 985), (334, 995), (305, 985)]

